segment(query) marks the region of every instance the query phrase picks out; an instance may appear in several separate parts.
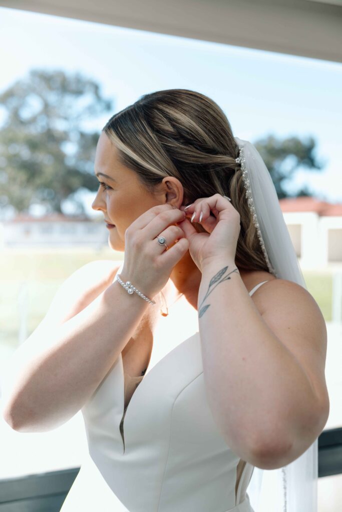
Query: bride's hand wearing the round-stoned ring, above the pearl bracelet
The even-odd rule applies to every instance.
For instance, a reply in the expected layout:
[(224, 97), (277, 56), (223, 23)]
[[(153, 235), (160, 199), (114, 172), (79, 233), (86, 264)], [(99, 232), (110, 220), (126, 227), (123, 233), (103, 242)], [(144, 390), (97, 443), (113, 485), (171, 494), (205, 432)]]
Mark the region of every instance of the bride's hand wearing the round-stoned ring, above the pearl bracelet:
[[(159, 204), (140, 215), (125, 232), (125, 257), (120, 279), (130, 281), (148, 298), (167, 284), (173, 267), (189, 249), (182, 228), (175, 225), (185, 212), (170, 204)], [(157, 237), (165, 237), (165, 245)]]

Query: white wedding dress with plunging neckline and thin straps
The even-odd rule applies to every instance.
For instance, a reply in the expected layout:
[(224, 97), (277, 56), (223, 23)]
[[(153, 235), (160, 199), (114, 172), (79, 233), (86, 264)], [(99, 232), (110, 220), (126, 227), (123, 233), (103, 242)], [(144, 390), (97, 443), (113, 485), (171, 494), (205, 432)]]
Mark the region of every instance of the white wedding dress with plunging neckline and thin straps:
[(254, 466), (232, 452), (207, 401), (197, 311), (174, 324), (163, 324), (172, 337), (153, 346), (144, 376), (124, 379), (120, 355), (82, 408), (89, 454), (61, 512), (254, 512)]

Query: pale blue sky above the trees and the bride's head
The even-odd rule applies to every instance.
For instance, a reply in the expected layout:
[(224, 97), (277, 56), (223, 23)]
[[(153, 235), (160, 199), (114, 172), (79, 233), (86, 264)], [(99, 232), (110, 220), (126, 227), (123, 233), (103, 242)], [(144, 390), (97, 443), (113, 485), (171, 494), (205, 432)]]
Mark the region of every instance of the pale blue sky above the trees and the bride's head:
[[(340, 63), (7, 8), (0, 59), (1, 92), (32, 68), (79, 71), (113, 98), (112, 114), (145, 93), (185, 88), (216, 101), (241, 139), (313, 136), (325, 168), (300, 170), (288, 189), (307, 181), (318, 199), (342, 202)], [(88, 208), (93, 196), (84, 196)]]

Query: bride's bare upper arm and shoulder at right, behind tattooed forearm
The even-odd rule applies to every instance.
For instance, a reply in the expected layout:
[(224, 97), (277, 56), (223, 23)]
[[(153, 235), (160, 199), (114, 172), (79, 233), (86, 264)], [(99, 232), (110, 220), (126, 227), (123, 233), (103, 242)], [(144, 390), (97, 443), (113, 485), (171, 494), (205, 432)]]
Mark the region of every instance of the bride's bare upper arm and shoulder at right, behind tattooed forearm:
[(319, 414), (327, 419), (327, 328), (323, 314), (312, 295), (292, 281), (276, 279), (261, 288), (263, 320), (296, 357), (316, 394)]

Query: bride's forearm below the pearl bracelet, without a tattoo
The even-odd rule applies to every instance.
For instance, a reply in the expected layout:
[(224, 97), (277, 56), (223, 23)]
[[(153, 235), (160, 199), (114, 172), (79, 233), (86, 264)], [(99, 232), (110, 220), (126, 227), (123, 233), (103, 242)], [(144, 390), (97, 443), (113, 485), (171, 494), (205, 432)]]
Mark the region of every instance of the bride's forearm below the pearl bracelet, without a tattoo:
[(63, 325), (41, 333), (53, 338), (49, 348), (26, 359), (16, 372), (6, 413), (12, 428), (51, 430), (81, 410), (148, 307), (137, 294), (129, 295), (114, 282)]

